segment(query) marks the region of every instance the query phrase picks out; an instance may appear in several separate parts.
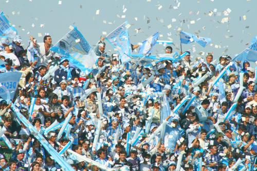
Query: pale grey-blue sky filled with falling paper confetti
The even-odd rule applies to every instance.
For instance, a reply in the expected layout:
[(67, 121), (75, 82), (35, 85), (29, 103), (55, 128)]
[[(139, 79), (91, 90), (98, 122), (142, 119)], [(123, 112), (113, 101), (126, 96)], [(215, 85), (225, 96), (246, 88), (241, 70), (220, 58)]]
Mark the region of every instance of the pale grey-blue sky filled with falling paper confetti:
[[(0, 11), (4, 11), (10, 22), (16, 26), (26, 46), (29, 35), (33, 35), (41, 42), (45, 33), (49, 33), (53, 43), (56, 43), (69, 31), (72, 24), (78, 27), (91, 45), (95, 45), (102, 32), (108, 34), (125, 20), (132, 25), (129, 28), (132, 44), (137, 44), (160, 31), (163, 37), (159, 39), (169, 40), (170, 37), (179, 47), (178, 28), (210, 37), (213, 46), (202, 48), (196, 43), (182, 45), (183, 50), (191, 49), (191, 52), (192, 47), (195, 48), (193, 57), (200, 56), (200, 51), (214, 52), (214, 58), (218, 58), (226, 51), (225, 54), (233, 57), (236, 53), (242, 52), (252, 37), (257, 35), (256, 0), (148, 1), (150, 0), (64, 0), (59, 5), (59, 0), (1, 0)], [(178, 3), (178, 9), (174, 9)], [(224, 11), (227, 9), (230, 13), (225, 16)], [(97, 10), (100, 10), (99, 15), (96, 15)], [(213, 12), (211, 16), (210, 12)], [(125, 15), (125, 18), (121, 18), (122, 15)], [(243, 18), (244, 15), (246, 18)], [(222, 24), (224, 17), (229, 17), (229, 20), (228, 23)], [(103, 23), (104, 20), (106, 24)], [(191, 24), (193, 20), (195, 24)], [(40, 27), (41, 24), (44, 25), (43, 28)], [(170, 24), (172, 27), (168, 28)], [(135, 29), (140, 30), (136, 33)], [(38, 33), (41, 33), (42, 37), (38, 37)], [(215, 48), (215, 45), (218, 48)], [(106, 49), (112, 48), (107, 46)], [(163, 46), (156, 45), (154, 53), (163, 53), (163, 49)]]

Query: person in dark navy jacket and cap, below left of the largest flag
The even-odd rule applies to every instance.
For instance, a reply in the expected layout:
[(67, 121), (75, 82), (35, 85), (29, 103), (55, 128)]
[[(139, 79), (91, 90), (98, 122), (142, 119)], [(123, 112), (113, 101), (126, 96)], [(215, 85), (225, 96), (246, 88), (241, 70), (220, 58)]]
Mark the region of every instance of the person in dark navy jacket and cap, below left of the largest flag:
[(54, 81), (59, 85), (62, 80), (67, 80), (68, 75), (68, 59), (62, 59), (60, 62), (60, 67), (54, 72)]

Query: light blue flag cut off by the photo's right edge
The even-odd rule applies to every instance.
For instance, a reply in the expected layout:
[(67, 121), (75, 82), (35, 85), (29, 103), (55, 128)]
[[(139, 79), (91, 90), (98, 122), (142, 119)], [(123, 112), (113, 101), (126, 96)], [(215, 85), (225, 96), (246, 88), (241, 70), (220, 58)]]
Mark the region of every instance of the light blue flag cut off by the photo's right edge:
[(243, 52), (241, 52), (238, 55), (235, 55), (235, 57), (232, 59), (233, 61), (252, 61), (255, 62), (257, 60), (257, 36), (255, 36), (252, 41), (251, 45), (246, 48)]

